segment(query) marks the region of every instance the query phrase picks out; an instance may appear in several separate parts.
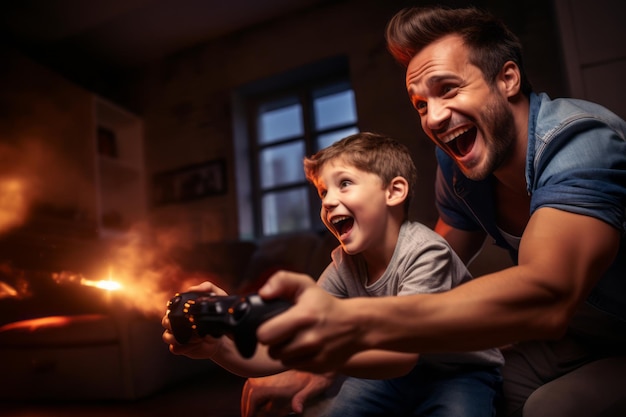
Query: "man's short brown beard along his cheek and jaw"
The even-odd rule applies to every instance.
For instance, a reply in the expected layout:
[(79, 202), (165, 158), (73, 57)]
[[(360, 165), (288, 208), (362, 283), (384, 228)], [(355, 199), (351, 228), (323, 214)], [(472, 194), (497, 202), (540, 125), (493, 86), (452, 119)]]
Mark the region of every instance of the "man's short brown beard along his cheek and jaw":
[(513, 152), (515, 142), (515, 119), (508, 102), (499, 95), (486, 104), (480, 116), (480, 125), (484, 130), (485, 161), (471, 170), (463, 170), (465, 176), (474, 181), (481, 181), (493, 174)]

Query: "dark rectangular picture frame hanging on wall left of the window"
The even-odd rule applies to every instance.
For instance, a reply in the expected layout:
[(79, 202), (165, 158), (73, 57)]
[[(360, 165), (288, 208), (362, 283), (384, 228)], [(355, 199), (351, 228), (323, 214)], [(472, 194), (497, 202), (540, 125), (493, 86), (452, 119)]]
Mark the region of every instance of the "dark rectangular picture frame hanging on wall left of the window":
[(155, 206), (183, 203), (226, 194), (226, 161), (214, 159), (154, 175)]

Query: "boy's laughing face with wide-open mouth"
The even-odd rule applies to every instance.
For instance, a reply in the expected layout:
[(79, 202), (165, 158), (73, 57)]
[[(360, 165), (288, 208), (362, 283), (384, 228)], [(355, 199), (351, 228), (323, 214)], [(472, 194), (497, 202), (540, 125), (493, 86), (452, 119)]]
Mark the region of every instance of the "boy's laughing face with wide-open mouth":
[(349, 254), (382, 241), (388, 215), (381, 178), (341, 159), (325, 163), (316, 181), (321, 218)]

